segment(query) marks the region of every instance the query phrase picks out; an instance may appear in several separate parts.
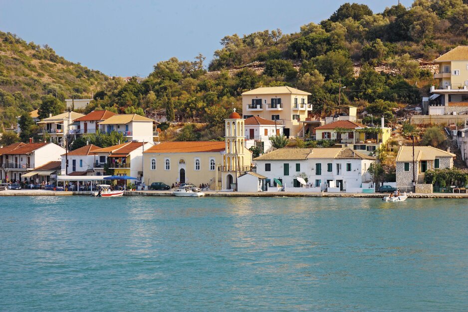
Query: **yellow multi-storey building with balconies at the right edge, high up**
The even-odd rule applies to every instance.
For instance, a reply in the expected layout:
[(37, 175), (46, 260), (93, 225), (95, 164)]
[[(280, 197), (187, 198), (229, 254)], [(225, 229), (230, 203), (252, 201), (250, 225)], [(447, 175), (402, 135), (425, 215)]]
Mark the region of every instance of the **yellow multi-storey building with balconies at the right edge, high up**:
[(468, 111), (468, 46), (459, 45), (434, 60), (439, 72), (434, 74), (438, 85), (431, 87), (432, 95), (423, 98), (425, 112), (444, 115)]

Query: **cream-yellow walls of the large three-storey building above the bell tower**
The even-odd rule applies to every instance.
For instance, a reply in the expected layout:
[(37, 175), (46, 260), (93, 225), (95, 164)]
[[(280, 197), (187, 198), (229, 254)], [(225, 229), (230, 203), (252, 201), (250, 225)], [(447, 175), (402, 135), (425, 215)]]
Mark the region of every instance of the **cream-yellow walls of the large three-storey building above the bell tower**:
[[(269, 109), (269, 104), (272, 98), (281, 98), (283, 110)], [(301, 99), (304, 99), (305, 109), (293, 109), (294, 98), (297, 97), (297, 103), (300, 107)], [(262, 110), (247, 110), (247, 105), (252, 104), (252, 99), (259, 98), (262, 100)], [(266, 104), (265, 104), (266, 100)], [(302, 94), (259, 94), (259, 95), (242, 95), (242, 115), (260, 116), (271, 120), (271, 115), (278, 115), (279, 119), (284, 119), (284, 127), (290, 129), (290, 135), (296, 136), (302, 130), (302, 125), (292, 119), (292, 115), (299, 115), (300, 120), (307, 118), (307, 95)]]

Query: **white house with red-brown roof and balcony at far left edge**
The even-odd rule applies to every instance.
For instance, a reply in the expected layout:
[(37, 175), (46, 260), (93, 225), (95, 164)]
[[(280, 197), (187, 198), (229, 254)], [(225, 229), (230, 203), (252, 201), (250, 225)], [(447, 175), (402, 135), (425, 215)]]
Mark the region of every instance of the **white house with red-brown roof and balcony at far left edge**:
[[(1, 152), (1, 178), (20, 181), (22, 175), (51, 161), (61, 161), (65, 149), (54, 143), (15, 143)], [(9, 149), (9, 150), (6, 150)]]

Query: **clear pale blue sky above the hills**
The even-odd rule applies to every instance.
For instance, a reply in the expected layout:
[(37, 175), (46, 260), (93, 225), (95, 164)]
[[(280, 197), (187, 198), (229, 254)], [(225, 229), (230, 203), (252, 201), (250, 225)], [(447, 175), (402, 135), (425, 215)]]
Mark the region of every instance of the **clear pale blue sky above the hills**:
[[(72, 62), (112, 76), (147, 76), (170, 57), (206, 65), (220, 39), (328, 18), (345, 0), (0, 0), (0, 30), (48, 44)], [(352, 2), (352, 1), (349, 1)], [(360, 0), (374, 12), (398, 0)], [(411, 6), (412, 0), (401, 0)], [(326, 3), (326, 5), (324, 5)]]

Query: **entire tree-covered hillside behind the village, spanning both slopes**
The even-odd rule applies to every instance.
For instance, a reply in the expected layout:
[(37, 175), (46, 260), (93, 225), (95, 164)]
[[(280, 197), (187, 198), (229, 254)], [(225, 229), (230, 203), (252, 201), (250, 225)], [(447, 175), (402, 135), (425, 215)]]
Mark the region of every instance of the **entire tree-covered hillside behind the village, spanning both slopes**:
[[(94, 108), (115, 112), (166, 115), (170, 121), (204, 122), (204, 139), (221, 135), (220, 125), (232, 107), (241, 111), (240, 94), (260, 86), (290, 85), (312, 93), (314, 114), (338, 104), (396, 121), (397, 108), (418, 105), (434, 83), (432, 60), (468, 44), (467, 0), (416, 0), (372, 12), (367, 5), (345, 3), (320, 23), (298, 32), (264, 30), (221, 39), (210, 64), (170, 58), (154, 66), (146, 79), (108, 79), (97, 71), (57, 56), (11, 34), (1, 33), (0, 109), (11, 119), (15, 110), (37, 107), (42, 94), (94, 99)], [(21, 97), (24, 99), (16, 100)], [(3, 95), (3, 98), (5, 96)], [(13, 101), (12, 101), (13, 99)], [(19, 102), (19, 103), (18, 103)], [(401, 110), (400, 110), (401, 111)], [(367, 122), (364, 118), (363, 122)]]

